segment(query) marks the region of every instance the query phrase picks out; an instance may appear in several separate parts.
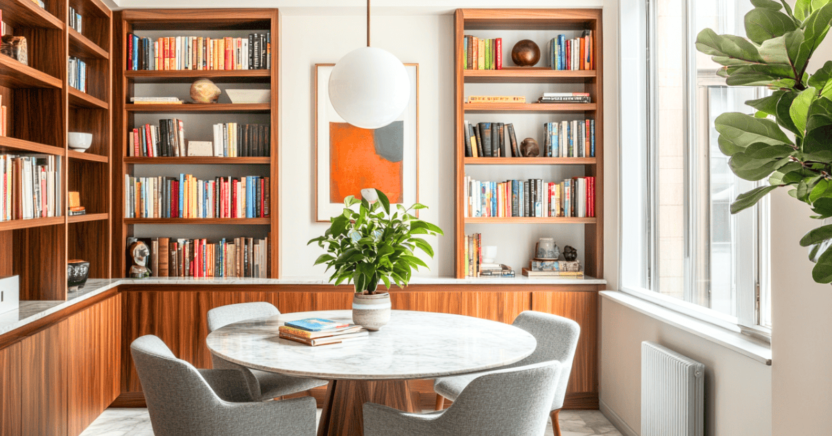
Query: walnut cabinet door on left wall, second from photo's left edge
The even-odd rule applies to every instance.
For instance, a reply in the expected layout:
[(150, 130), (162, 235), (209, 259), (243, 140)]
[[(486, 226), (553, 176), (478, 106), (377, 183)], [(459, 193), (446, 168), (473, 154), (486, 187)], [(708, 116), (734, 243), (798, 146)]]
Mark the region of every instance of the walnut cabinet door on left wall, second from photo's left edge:
[(67, 435), (67, 321), (21, 341), (22, 436)]

